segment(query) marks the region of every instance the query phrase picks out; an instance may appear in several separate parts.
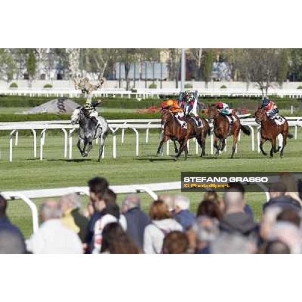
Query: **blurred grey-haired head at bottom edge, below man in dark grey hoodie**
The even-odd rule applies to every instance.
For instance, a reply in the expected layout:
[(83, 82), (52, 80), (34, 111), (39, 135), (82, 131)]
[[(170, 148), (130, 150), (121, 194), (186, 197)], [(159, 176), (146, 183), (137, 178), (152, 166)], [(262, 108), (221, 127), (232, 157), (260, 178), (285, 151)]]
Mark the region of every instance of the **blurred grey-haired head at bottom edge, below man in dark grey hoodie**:
[(210, 244), (211, 254), (255, 254), (253, 241), (239, 235), (222, 233)]

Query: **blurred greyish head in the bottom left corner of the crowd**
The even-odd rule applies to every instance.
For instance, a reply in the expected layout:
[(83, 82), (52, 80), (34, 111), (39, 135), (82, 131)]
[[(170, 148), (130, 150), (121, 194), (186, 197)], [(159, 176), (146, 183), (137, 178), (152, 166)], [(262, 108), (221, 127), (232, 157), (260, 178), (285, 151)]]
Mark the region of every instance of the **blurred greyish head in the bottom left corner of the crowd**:
[(25, 253), (25, 243), (20, 235), (11, 230), (0, 230), (0, 254)]

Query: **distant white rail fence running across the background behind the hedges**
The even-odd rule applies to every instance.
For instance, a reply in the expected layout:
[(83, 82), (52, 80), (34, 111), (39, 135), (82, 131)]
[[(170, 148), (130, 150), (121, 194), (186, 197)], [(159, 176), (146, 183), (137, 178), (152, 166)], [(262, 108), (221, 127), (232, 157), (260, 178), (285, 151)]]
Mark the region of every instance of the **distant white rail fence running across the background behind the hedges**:
[[(191, 89), (192, 91), (194, 89)], [(259, 89), (198, 89), (200, 97), (262, 97)], [(179, 95), (179, 89), (137, 89), (126, 91), (123, 89), (100, 89), (93, 92), (94, 97), (126, 97), (145, 99), (150, 97), (159, 98), (161, 95)], [(280, 98), (302, 98), (302, 89), (269, 89), (269, 95)], [(30, 97), (81, 97), (81, 91), (73, 89), (37, 89), (37, 88), (0, 88), (0, 95), (8, 96), (30, 96)]]

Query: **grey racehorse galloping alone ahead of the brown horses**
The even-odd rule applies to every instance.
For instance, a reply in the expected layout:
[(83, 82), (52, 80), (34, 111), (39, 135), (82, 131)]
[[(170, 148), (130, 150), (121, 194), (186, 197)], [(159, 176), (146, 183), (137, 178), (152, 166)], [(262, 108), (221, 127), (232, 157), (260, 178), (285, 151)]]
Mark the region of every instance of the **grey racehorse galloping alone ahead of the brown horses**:
[[(99, 159), (100, 162), (102, 154), (103, 154), (103, 147), (105, 144), (106, 137), (109, 132), (109, 126), (107, 121), (99, 116), (98, 117), (100, 125), (97, 127), (96, 122), (93, 121), (89, 116), (87, 116), (83, 109), (77, 108), (72, 112), (71, 115), (71, 124), (75, 125), (79, 123), (80, 130), (79, 130), (79, 139), (78, 139), (78, 149), (81, 152), (82, 157), (87, 157), (88, 153), (92, 149), (92, 141), (97, 137), (100, 138), (100, 148), (99, 148)], [(83, 149), (81, 149), (81, 143), (84, 143)], [(88, 148), (86, 149), (88, 145)]]

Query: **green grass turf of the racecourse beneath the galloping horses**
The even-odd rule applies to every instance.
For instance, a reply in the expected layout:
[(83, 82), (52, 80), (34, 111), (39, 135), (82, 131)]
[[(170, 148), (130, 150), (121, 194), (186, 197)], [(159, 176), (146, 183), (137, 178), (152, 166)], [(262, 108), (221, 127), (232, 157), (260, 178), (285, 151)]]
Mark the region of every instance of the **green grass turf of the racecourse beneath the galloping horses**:
[[(170, 144), (170, 155), (156, 157), (159, 142), (159, 130), (151, 130), (149, 143), (144, 142), (144, 132), (140, 133), (139, 156), (135, 157), (135, 137), (131, 132), (125, 134), (124, 144), (120, 143), (120, 134), (117, 136), (117, 159), (112, 158), (112, 136), (109, 135), (105, 145), (105, 159), (97, 163), (98, 148), (94, 146), (88, 158), (82, 158), (75, 146), (77, 135), (73, 139), (73, 159), (63, 158), (63, 136), (52, 135), (49, 131), (44, 145), (44, 160), (33, 158), (31, 136), (19, 136), (18, 146), (14, 146), (13, 162), (9, 158), (9, 139), (0, 136), (0, 190), (21, 190), (38, 188), (55, 188), (67, 186), (85, 186), (94, 176), (103, 176), (109, 179), (110, 184), (143, 184), (153, 182), (179, 181), (181, 172), (301, 172), (300, 150), (302, 148), (301, 130), (298, 139), (290, 139), (285, 148), (284, 158), (279, 154), (270, 159), (251, 151), (250, 137), (242, 135), (238, 153), (233, 160), (231, 155), (231, 139), (228, 141), (227, 151), (220, 158), (209, 155), (209, 138), (206, 142), (205, 158), (195, 155), (195, 143), (190, 144), (190, 155), (187, 161), (181, 157), (173, 161), (173, 146)], [(38, 136), (39, 137), (39, 136)], [(270, 145), (264, 145), (269, 150)], [(165, 146), (166, 150), (166, 146)], [(39, 148), (38, 148), (39, 154)], [(202, 193), (189, 193), (192, 210), (195, 211), (202, 199)], [(123, 195), (118, 196), (121, 202)], [(147, 210), (150, 198), (141, 194), (143, 208)], [(248, 193), (247, 202), (252, 206), (256, 219), (261, 218), (261, 207), (265, 201), (263, 193)], [(40, 204), (42, 200), (36, 200)], [(87, 198), (83, 197), (83, 203)], [(25, 236), (31, 232), (30, 211), (21, 201), (12, 201), (9, 206), (9, 215), (14, 223), (18, 224)]]

